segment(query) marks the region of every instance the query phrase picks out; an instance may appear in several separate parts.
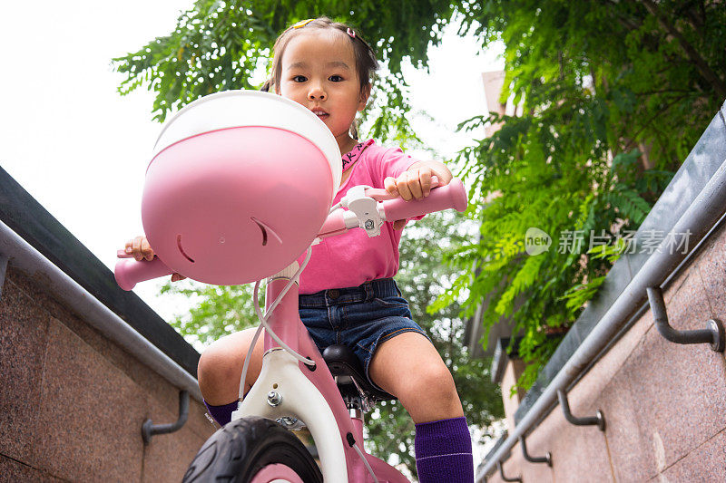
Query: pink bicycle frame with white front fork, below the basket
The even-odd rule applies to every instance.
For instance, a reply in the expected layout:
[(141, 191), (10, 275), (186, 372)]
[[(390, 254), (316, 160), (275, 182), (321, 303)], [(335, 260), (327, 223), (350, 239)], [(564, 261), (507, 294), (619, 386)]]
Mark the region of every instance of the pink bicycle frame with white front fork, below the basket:
[[(292, 265), (297, 266), (297, 262)], [(281, 273), (289, 273), (289, 269)], [(267, 304), (280, 295), (288, 282), (289, 278), (282, 275), (270, 278)], [(247, 416), (276, 420), (287, 416), (304, 421), (315, 440), (326, 483), (374, 481), (351, 440), (358, 444), (380, 483), (407, 483), (408, 479), (397, 469), (363, 448), (363, 421), (349, 415), (328, 365), (300, 321), (298, 294), (298, 285), (293, 284), (270, 314), (268, 324), (291, 349), (315, 361), (315, 368), (309, 369), (265, 333), (260, 376), (240, 408), (232, 413), (232, 420)], [(270, 392), (278, 394), (278, 401), (270, 401)]]

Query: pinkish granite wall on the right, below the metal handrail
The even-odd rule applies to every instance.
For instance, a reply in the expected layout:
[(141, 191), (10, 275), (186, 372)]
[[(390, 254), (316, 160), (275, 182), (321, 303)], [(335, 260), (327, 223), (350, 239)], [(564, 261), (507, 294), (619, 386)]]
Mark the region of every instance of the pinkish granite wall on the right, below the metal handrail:
[[(726, 320), (726, 228), (713, 234), (665, 291), (672, 326), (701, 329)], [(569, 393), (575, 416), (604, 413), (606, 429), (573, 426), (556, 406), (516, 444), (503, 467), (525, 482), (726, 481), (726, 360), (707, 344), (662, 338), (643, 314)], [(499, 473), (488, 481), (503, 481)]]

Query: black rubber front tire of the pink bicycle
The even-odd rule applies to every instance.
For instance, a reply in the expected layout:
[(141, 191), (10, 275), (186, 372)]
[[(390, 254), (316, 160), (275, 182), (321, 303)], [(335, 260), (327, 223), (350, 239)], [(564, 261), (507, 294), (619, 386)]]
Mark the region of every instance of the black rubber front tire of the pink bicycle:
[(305, 483), (323, 477), (308, 449), (279, 423), (257, 416), (233, 420), (211, 435), (184, 474), (183, 483), (249, 483), (260, 469), (282, 463)]

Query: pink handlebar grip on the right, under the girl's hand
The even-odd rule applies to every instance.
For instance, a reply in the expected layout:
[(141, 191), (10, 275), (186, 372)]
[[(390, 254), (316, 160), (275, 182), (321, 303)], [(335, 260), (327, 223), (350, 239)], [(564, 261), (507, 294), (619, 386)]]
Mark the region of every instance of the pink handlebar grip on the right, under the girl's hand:
[(427, 198), (412, 199), (406, 201), (402, 198), (384, 201), (383, 212), (386, 221), (407, 219), (441, 211), (447, 208), (455, 208), (456, 211), (464, 211), (468, 205), (466, 188), (460, 179), (452, 179), (449, 184), (434, 188)]

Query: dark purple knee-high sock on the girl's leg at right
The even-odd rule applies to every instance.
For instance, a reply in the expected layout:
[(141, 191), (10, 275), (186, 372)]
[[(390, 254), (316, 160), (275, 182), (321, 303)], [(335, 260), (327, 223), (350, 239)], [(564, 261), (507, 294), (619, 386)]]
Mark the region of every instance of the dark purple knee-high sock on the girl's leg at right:
[(474, 459), (466, 418), (416, 425), (416, 469), (420, 483), (472, 483)]

